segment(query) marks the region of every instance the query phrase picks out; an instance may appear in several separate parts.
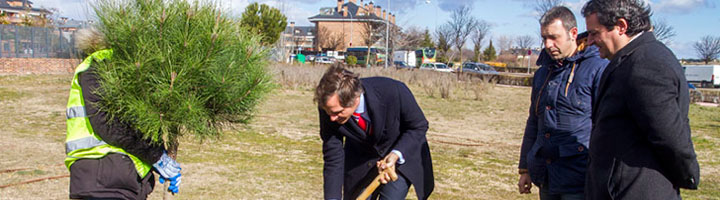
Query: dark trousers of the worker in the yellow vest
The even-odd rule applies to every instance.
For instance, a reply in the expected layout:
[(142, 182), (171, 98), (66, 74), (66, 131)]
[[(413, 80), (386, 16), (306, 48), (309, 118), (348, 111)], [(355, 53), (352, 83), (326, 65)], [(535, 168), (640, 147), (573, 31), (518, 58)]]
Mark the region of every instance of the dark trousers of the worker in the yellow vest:
[(154, 186), (153, 173), (140, 178), (127, 155), (110, 153), (70, 166), (71, 199), (146, 199)]

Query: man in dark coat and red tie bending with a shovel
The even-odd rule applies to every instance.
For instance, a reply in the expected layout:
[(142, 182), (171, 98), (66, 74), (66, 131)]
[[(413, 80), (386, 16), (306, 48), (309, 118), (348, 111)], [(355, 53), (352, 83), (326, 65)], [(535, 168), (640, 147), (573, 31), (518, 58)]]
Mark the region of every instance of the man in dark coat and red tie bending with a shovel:
[(434, 188), (425, 132), (428, 122), (405, 84), (384, 77), (359, 79), (335, 65), (315, 90), (323, 140), (325, 199), (355, 199), (382, 171), (395, 166), (398, 179), (372, 199), (405, 199), (414, 185), (418, 199)]

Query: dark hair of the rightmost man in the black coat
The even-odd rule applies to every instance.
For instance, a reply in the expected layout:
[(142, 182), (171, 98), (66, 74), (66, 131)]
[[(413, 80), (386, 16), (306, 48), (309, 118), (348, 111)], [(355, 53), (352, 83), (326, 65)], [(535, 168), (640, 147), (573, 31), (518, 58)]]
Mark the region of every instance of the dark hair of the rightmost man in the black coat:
[(608, 30), (613, 30), (619, 19), (625, 19), (628, 23), (626, 33), (629, 36), (652, 28), (652, 11), (642, 0), (590, 0), (583, 6), (582, 13), (586, 18), (596, 14), (598, 22)]

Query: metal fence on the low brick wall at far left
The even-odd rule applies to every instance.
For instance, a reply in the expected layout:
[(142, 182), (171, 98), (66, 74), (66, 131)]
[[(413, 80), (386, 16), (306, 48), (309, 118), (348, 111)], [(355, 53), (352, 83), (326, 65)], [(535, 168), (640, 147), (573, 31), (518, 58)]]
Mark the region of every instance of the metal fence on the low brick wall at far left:
[(0, 58), (76, 58), (75, 31), (0, 25)]

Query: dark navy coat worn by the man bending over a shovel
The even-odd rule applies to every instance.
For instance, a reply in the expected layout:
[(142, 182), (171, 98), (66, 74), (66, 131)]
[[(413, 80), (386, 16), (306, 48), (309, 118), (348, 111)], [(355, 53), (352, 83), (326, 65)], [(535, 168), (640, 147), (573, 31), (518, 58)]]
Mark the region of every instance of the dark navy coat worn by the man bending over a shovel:
[(360, 80), (371, 136), (366, 137), (354, 120), (340, 125), (319, 111), (325, 199), (355, 199), (377, 176), (375, 162), (393, 149), (405, 158), (405, 163), (397, 166), (399, 173), (415, 186), (418, 199), (427, 199), (434, 179), (425, 115), (405, 84), (382, 77)]

